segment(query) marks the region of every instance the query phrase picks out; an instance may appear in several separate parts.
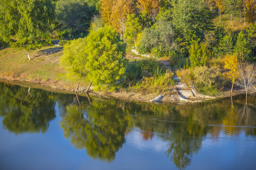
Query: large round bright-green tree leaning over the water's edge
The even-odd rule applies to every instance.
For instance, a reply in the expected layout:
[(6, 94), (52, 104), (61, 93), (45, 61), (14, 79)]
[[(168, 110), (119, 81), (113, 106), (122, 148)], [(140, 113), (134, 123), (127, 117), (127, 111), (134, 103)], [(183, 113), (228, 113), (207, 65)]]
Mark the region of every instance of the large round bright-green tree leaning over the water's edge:
[(68, 73), (86, 78), (98, 89), (113, 89), (126, 70), (125, 50), (116, 30), (104, 26), (66, 45), (61, 64)]

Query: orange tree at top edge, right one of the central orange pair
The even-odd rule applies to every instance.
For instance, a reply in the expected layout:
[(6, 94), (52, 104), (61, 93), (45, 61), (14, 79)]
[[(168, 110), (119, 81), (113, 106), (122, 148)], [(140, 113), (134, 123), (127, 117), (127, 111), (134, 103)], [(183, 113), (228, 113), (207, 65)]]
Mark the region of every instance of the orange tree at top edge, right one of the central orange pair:
[(159, 12), (160, 2), (161, 0), (138, 0), (137, 3), (141, 12), (146, 12), (155, 22), (155, 17)]

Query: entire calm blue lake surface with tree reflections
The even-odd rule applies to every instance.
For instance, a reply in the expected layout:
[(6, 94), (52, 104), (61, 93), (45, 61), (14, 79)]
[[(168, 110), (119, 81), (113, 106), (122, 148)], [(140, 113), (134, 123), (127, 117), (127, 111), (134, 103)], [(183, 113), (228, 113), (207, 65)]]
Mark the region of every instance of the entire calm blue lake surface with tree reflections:
[(256, 170), (256, 98), (120, 102), (0, 83), (0, 170)]

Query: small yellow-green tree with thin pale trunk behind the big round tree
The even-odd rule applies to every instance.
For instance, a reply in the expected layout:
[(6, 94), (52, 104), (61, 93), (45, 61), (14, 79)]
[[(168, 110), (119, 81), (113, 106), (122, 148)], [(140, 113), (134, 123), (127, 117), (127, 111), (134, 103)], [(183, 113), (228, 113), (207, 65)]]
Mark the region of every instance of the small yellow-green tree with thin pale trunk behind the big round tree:
[(135, 17), (135, 14), (132, 14), (132, 15), (128, 14), (125, 26), (126, 26), (125, 36), (127, 38), (134, 39), (134, 44), (137, 49), (137, 45), (136, 45), (137, 34), (139, 34), (142, 30), (142, 27), (139, 23), (139, 18)]

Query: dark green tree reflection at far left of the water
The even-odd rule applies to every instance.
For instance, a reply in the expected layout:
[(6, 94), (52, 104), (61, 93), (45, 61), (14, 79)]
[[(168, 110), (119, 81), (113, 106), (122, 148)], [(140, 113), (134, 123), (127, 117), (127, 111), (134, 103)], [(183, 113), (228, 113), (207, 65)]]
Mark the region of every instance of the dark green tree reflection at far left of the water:
[(44, 133), (55, 118), (55, 102), (49, 92), (0, 83), (0, 116), (10, 132)]

